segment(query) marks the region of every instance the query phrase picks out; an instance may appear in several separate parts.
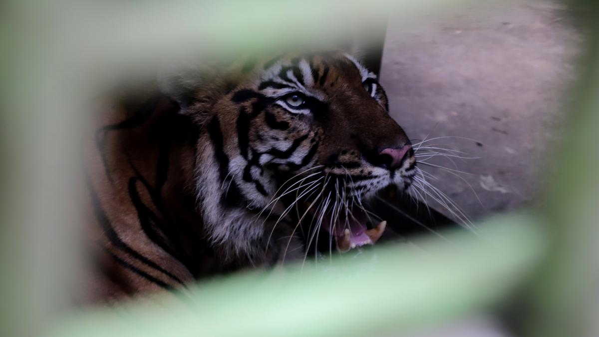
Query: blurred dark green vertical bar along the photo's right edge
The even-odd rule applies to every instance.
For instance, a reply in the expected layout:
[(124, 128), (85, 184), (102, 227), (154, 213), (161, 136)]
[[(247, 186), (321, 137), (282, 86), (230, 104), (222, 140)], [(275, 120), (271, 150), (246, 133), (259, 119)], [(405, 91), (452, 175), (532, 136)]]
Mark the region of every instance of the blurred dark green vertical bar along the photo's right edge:
[[(542, 215), (550, 254), (528, 288), (528, 336), (597, 336), (599, 326), (599, 4), (574, 1), (586, 35), (579, 83), (571, 90), (565, 142), (553, 151)], [(551, 154), (551, 152), (550, 152)]]

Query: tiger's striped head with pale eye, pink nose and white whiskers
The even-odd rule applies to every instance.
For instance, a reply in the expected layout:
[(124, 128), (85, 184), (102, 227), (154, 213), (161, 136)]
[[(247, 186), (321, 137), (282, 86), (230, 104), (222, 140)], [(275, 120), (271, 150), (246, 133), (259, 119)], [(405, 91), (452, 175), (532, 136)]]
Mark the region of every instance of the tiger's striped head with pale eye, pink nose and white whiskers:
[(200, 211), (213, 243), (237, 254), (259, 256), (274, 244), (269, 233), (298, 222), (322, 228), (340, 249), (373, 243), (382, 229), (368, 230), (362, 203), (389, 185), (407, 189), (416, 173), (377, 77), (346, 53), (251, 59), (181, 73), (162, 88), (203, 130)]

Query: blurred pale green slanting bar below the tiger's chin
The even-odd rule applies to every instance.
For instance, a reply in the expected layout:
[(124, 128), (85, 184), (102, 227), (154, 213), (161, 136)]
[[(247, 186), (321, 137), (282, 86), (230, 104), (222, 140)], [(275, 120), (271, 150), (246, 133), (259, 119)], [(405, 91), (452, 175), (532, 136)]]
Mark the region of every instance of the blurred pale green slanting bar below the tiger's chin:
[(372, 336), (434, 326), (504, 299), (543, 256), (530, 216), (479, 229), (218, 278), (181, 296), (189, 300), (74, 315), (50, 336)]

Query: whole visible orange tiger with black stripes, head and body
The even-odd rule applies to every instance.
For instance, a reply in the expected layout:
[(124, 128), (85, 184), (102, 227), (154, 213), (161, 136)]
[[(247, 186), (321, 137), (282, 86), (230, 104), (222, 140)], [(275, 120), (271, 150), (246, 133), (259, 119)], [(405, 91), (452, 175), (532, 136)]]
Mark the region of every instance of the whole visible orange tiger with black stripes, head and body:
[(416, 173), (376, 74), (342, 50), (164, 71), (115, 96), (84, 151), (94, 300), (371, 245), (386, 222), (364, 204)]

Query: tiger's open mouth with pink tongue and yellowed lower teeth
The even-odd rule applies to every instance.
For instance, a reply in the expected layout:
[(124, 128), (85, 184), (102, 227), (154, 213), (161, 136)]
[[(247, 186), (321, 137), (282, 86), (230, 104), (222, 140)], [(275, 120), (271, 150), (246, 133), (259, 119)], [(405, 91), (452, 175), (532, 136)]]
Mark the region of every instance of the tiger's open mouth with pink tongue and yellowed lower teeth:
[(327, 212), (320, 228), (334, 237), (338, 251), (347, 252), (359, 246), (372, 245), (380, 239), (387, 222), (380, 221), (375, 225), (373, 221), (361, 209), (338, 215)]

